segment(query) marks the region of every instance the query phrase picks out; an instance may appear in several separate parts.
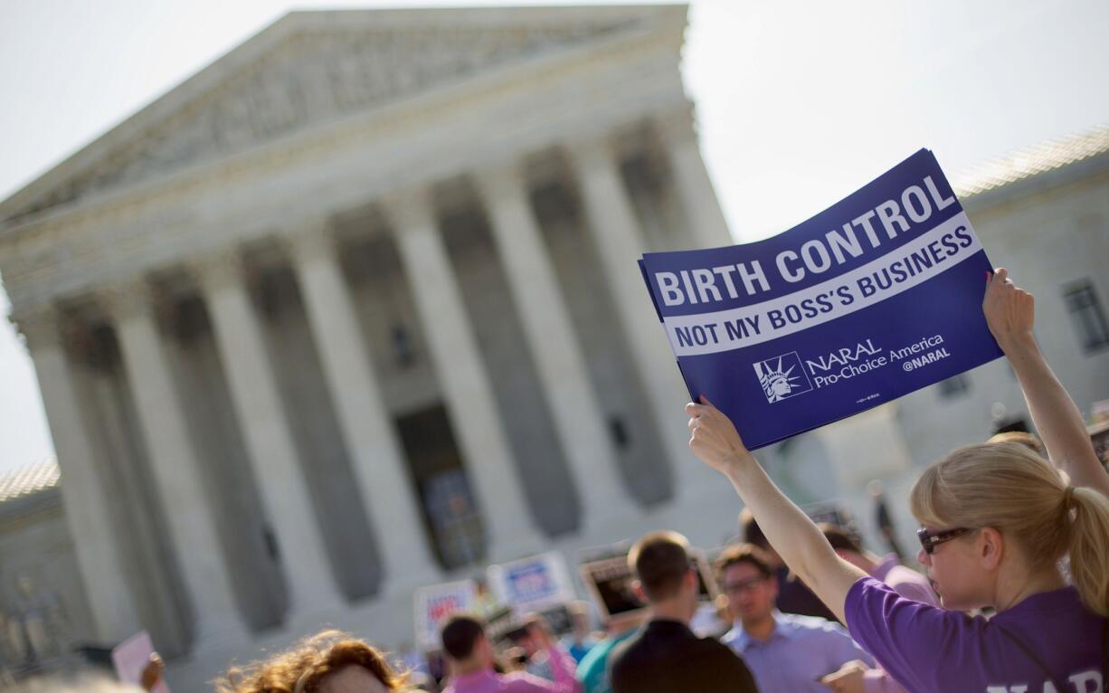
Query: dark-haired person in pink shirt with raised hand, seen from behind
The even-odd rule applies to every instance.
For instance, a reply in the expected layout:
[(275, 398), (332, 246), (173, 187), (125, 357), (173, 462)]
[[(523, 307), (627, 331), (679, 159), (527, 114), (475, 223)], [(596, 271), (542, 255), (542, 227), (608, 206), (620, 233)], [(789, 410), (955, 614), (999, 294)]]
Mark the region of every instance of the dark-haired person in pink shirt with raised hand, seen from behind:
[(546, 651), (553, 681), (527, 672), (499, 674), (497, 655), (485, 623), (474, 615), (457, 614), (442, 626), (442, 650), (450, 662), (450, 677), (444, 693), (577, 693), (574, 662), (538, 621), (529, 625), (531, 638)]

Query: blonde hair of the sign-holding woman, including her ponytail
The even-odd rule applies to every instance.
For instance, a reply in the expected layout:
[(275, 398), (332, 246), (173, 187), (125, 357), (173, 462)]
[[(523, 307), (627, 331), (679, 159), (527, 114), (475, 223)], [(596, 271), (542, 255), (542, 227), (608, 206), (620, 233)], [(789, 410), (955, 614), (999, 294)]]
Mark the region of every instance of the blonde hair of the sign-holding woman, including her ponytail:
[(997, 529), (1017, 542), (1031, 570), (1069, 553), (1082, 602), (1109, 615), (1109, 499), (1068, 486), (1065, 475), (1028, 447), (959, 448), (924, 472), (910, 505), (925, 524)]

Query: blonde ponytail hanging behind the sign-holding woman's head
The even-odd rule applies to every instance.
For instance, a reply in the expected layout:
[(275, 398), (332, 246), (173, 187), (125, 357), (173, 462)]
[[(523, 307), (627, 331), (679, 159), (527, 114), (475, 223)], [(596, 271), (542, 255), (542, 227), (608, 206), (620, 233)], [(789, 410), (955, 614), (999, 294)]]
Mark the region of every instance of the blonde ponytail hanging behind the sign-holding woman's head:
[(1070, 577), (1082, 602), (1109, 616), (1109, 499), (1083, 487), (1072, 495)]

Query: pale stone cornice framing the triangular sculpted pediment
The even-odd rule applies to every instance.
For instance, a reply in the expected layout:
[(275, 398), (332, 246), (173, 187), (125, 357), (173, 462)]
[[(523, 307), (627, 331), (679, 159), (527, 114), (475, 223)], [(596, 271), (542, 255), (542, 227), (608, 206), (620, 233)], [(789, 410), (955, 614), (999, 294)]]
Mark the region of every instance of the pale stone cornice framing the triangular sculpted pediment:
[[(223, 58), (216, 60), (197, 74), (185, 80), (182, 84), (172, 89), (163, 96), (156, 99), (150, 105), (126, 119), (104, 135), (98, 137), (89, 145), (82, 147), (75, 154), (58, 164), (45, 174), (14, 193), (7, 201), (0, 202), (0, 235), (26, 226), (26, 222), (34, 223), (35, 220), (49, 218), (49, 207), (43, 213), (34, 213), (30, 218), (23, 218), (29, 207), (33, 208), (37, 201), (47, 197), (52, 190), (61, 190), (65, 185), (72, 184), (80, 175), (88, 173), (98, 164), (109, 161), (114, 153), (133, 150), (134, 142), (155, 133), (157, 129), (165, 126), (175, 119), (181, 119), (190, 113), (195, 113), (210, 104), (212, 100), (225, 95), (228, 84), (233, 84), (235, 79), (252, 70), (257, 70), (260, 64), (266, 61), (274, 62), (275, 55), (283, 51), (295, 50), (295, 42), (305, 37), (319, 32), (342, 32), (350, 34), (358, 31), (372, 31), (374, 35), (381, 35), (388, 32), (459, 32), (459, 31), (489, 31), (489, 32), (523, 32), (535, 30), (567, 30), (574, 27), (592, 27), (594, 29), (610, 29), (611, 35), (617, 42), (621, 37), (633, 37), (635, 34), (654, 34), (676, 39), (675, 51), (680, 50), (682, 34), (685, 27), (686, 7), (681, 6), (623, 6), (608, 8), (511, 8), (511, 9), (455, 9), (455, 10), (358, 10), (358, 11), (311, 11), (293, 12), (282, 18), (253, 39), (232, 50)], [(617, 26), (619, 23), (620, 26)], [(418, 33), (416, 35), (419, 35)], [(490, 38), (494, 38), (492, 33)], [(386, 99), (377, 106), (363, 112), (355, 112), (347, 118), (326, 120), (309, 123), (298, 132), (283, 133), (284, 136), (276, 136), (267, 142), (257, 143), (260, 146), (252, 146), (238, 152), (227, 152), (215, 156), (208, 161), (197, 162), (197, 165), (185, 166), (180, 173), (189, 177), (190, 173), (195, 173), (196, 169), (207, 169), (208, 166), (220, 167), (232, 161), (244, 159), (237, 154), (256, 154), (260, 151), (272, 149), (268, 145), (282, 145), (296, 147), (305, 140), (318, 135), (321, 130), (328, 130), (333, 126), (342, 126), (349, 121), (364, 120), (366, 115), (389, 120), (389, 115), (411, 114), (411, 111), (419, 110), (421, 103), (428, 101), (438, 102), (446, 98), (450, 101), (454, 94), (456, 98), (465, 99), (468, 89), (488, 89), (488, 83), (495, 81), (497, 73), (520, 72), (530, 62), (533, 67), (543, 68), (543, 63), (559, 62), (560, 55), (566, 55), (573, 60), (576, 54), (589, 52), (591, 47), (603, 50), (606, 43), (604, 33), (602, 38), (593, 41), (588, 40), (581, 44), (571, 44), (564, 51), (552, 51), (540, 54), (532, 61), (523, 58), (518, 62), (510, 62), (507, 67), (496, 65), (490, 70), (479, 70), (474, 79), (462, 79), (449, 88), (435, 89), (430, 93), (417, 93), (396, 101)], [(428, 37), (425, 37), (427, 39)], [(434, 38), (434, 37), (430, 37)], [(415, 42), (416, 39), (413, 39)], [(578, 50), (574, 50), (578, 49)], [(462, 58), (460, 55), (459, 58)], [(500, 69), (498, 69), (500, 68)], [(499, 74), (509, 78), (510, 74)], [(472, 84), (470, 83), (472, 82)], [(317, 125), (313, 128), (313, 125)], [(163, 133), (164, 134), (164, 133)], [(149, 179), (150, 176), (144, 176)], [(180, 176), (167, 174), (155, 175), (156, 180), (171, 182)], [(145, 190), (144, 184), (125, 186), (120, 191), (124, 195), (128, 192)], [(96, 202), (114, 198), (113, 194), (94, 195)], [(90, 202), (93, 202), (90, 200)], [(80, 208), (80, 200), (77, 204), (62, 204), (68, 210)]]

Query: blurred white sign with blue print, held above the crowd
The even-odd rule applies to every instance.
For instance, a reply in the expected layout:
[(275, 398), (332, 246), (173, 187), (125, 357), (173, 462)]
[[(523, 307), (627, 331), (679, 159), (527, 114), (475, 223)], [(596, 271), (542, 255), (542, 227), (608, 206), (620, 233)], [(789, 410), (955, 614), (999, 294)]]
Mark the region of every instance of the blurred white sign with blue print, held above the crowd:
[(497, 601), (511, 607), (517, 615), (551, 609), (574, 598), (570, 573), (558, 551), (490, 565), (486, 575)]

